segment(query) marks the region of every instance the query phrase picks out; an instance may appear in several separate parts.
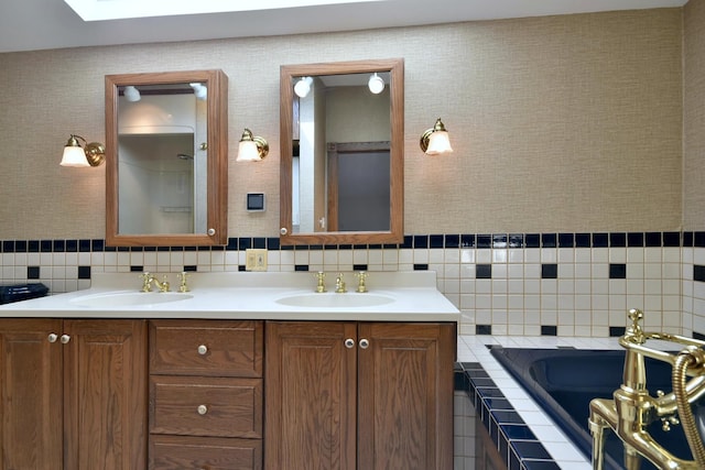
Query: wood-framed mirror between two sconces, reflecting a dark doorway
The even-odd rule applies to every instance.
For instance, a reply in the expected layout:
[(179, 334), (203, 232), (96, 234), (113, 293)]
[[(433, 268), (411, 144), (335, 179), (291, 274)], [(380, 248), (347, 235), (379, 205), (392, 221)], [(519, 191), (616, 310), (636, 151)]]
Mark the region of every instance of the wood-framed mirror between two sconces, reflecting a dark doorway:
[(280, 94), (281, 243), (401, 243), (403, 59), (283, 65)]

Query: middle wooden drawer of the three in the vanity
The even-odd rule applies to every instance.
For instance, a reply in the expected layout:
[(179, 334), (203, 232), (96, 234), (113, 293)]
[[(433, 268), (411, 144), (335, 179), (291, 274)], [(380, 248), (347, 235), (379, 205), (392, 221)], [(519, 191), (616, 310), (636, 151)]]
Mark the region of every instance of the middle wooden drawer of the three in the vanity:
[(262, 380), (150, 378), (150, 431), (262, 437)]

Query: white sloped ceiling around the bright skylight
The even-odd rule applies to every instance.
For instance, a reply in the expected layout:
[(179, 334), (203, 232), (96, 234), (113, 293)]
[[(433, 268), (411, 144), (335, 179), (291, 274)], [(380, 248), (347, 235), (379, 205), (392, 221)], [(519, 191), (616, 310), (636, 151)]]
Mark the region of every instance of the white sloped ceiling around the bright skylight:
[[(173, 0), (80, 0), (98, 6), (118, 4), (126, 11), (130, 11), (130, 2), (135, 1), (155, 2), (162, 9)], [(219, 0), (220, 3), (229, 2), (240, 10), (243, 10), (242, 3), (248, 0)], [(288, 4), (325, 3), (325, 0), (286, 1)], [(252, 6), (262, 8), (260, 6), (268, 1), (249, 0), (246, 11), (86, 22), (64, 0), (0, 0), (0, 53), (682, 7), (686, 2), (687, 0), (367, 0), (355, 3), (355, 0), (349, 0), (348, 3), (252, 10)], [(191, 3), (199, 4), (199, 0), (191, 0)], [(204, 0), (200, 3), (208, 2)], [(282, 0), (279, 3), (286, 2)]]

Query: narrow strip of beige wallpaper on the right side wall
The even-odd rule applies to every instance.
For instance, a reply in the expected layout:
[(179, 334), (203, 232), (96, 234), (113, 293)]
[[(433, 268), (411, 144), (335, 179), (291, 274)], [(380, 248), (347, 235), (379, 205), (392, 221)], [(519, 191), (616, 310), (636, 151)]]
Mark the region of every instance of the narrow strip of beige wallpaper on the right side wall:
[(705, 1), (684, 8), (683, 228), (705, 230)]

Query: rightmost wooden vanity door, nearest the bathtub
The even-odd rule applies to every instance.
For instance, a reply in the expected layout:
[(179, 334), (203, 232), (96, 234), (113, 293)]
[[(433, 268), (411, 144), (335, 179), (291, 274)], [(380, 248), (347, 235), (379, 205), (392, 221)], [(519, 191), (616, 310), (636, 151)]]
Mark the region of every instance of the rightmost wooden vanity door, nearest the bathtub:
[(361, 323), (358, 334), (358, 468), (453, 468), (453, 325)]

